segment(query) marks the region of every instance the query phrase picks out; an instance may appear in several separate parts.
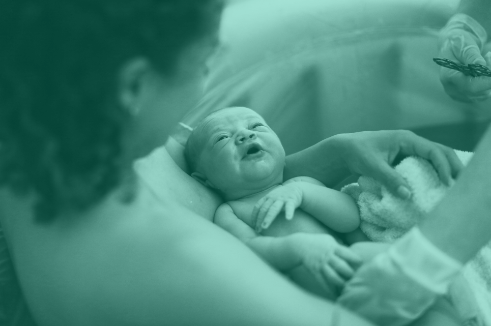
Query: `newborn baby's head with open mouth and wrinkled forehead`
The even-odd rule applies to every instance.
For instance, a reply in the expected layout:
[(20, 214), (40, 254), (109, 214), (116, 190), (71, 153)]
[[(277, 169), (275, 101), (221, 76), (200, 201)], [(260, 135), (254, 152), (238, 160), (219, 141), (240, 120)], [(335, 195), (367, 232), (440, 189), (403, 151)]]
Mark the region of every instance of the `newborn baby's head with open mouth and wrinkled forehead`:
[(245, 107), (215, 111), (189, 136), (186, 160), (194, 179), (227, 200), (265, 190), (283, 179), (285, 152), (263, 117)]

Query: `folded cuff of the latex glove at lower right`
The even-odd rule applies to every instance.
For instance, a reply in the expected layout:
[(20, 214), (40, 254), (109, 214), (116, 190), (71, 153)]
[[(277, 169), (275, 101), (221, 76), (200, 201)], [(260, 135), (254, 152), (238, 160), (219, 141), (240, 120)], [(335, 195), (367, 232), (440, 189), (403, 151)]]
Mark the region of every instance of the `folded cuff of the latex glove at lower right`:
[(403, 236), (388, 255), (408, 277), (434, 293), (444, 294), (463, 267), (435, 247), (418, 228)]

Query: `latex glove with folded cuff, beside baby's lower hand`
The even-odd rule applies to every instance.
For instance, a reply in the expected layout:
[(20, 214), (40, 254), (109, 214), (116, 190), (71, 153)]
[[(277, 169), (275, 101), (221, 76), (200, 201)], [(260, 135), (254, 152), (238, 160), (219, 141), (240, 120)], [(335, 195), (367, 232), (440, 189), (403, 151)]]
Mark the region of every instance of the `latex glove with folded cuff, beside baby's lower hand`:
[(447, 293), (461, 268), (413, 228), (362, 265), (338, 303), (379, 325), (406, 325)]

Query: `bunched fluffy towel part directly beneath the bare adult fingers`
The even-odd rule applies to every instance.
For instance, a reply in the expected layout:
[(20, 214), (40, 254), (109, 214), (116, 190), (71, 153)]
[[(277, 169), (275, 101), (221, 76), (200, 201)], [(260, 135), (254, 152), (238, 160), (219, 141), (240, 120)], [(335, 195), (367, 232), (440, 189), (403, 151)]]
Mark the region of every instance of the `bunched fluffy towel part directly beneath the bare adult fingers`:
[[(455, 151), (466, 165), (472, 153)], [(355, 198), (360, 209), (361, 230), (372, 241), (392, 243), (416, 225), (445, 195), (449, 186), (440, 181), (435, 168), (427, 160), (408, 157), (395, 170), (408, 182), (412, 197), (394, 196), (368, 176), (341, 189)]]

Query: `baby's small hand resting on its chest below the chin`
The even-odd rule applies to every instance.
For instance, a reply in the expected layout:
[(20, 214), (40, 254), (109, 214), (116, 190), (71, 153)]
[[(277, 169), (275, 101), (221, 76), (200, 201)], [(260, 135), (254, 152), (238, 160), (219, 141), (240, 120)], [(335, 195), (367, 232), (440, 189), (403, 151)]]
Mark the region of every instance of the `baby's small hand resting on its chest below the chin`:
[(302, 203), (303, 193), (298, 183), (280, 186), (259, 199), (252, 210), (252, 220), (256, 221), (255, 229), (261, 232), (267, 229), (278, 214), (285, 212), (287, 220), (293, 219), (295, 209)]

